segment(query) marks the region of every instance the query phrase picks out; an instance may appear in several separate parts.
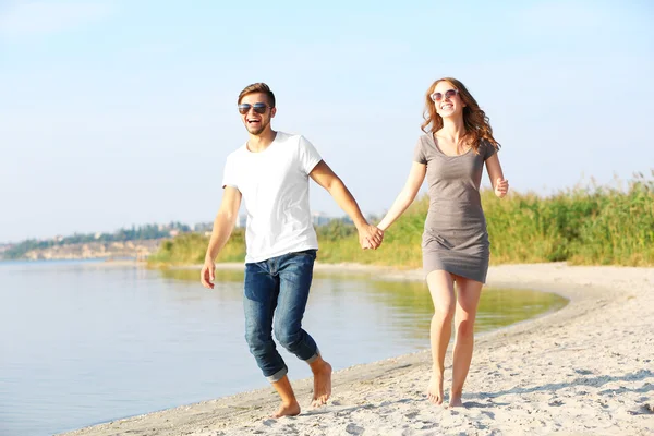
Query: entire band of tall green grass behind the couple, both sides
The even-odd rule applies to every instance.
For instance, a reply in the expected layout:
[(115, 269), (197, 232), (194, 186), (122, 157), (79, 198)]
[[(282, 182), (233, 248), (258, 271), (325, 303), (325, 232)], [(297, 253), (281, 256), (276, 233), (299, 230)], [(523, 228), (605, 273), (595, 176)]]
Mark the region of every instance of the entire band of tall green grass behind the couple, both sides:
[[(654, 170), (652, 171), (654, 175)], [(654, 181), (634, 175), (626, 186), (577, 186), (554, 195), (482, 192), (492, 264), (561, 262), (586, 265), (654, 265)], [(376, 251), (359, 247), (354, 228), (334, 221), (317, 229), (325, 263), (417, 268), (428, 198), (422, 197), (386, 232)], [(197, 264), (208, 239), (183, 234), (165, 242), (150, 264)], [(242, 262), (237, 229), (218, 262)]]

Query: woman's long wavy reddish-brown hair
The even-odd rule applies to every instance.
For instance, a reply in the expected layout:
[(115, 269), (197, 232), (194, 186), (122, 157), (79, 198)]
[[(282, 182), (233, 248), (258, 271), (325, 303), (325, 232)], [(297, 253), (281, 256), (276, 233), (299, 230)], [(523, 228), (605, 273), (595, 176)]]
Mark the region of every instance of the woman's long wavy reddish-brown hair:
[(434, 101), (432, 100), (432, 93), (440, 82), (448, 82), (457, 88), (459, 90), (459, 97), (461, 97), (461, 100), (465, 104), (465, 107), (463, 107), (463, 125), (465, 126), (465, 135), (463, 138), (465, 142), (470, 143), (474, 153), (479, 154), (482, 140), (486, 140), (496, 149), (499, 149), (499, 143), (493, 137), (493, 129), (491, 128), (488, 117), (486, 117), (486, 113), (480, 108), (480, 105), (470, 92), (468, 92), (465, 86), (452, 77), (439, 78), (427, 89), (427, 94), (425, 94), (425, 111), (423, 113), (425, 121), (421, 125), (422, 131), (434, 135), (443, 129), (443, 118), (436, 112), (436, 105), (434, 105)]

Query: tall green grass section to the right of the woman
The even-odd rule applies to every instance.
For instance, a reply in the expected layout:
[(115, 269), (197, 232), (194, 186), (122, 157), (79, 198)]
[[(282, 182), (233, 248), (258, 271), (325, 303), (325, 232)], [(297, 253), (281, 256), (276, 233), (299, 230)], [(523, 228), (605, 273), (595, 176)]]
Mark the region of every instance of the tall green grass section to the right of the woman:
[[(654, 171), (652, 171), (654, 175)], [(578, 186), (555, 195), (482, 197), (492, 262), (654, 265), (654, 181)]]

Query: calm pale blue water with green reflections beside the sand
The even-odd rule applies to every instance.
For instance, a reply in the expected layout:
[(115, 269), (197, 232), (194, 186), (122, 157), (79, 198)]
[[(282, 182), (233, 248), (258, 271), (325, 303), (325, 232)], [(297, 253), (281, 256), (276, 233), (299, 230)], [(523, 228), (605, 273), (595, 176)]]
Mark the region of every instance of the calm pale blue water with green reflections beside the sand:
[[(241, 271), (0, 263), (0, 435), (46, 435), (268, 386), (243, 338)], [(561, 307), (484, 291), (477, 330)], [(316, 275), (304, 326), (338, 368), (428, 348), (423, 283)], [(291, 379), (307, 366), (282, 350)]]

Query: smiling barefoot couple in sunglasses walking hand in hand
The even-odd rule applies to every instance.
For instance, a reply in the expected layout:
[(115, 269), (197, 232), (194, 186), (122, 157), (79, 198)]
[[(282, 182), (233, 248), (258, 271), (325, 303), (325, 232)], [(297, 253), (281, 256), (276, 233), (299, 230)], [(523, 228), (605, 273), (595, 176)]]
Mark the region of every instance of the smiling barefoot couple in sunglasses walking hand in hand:
[[(277, 341), (311, 366), (313, 407), (331, 395), (331, 366), (302, 329), (318, 241), (308, 205), (308, 179), (326, 189), (352, 219), (363, 249), (377, 249), (384, 231), (415, 198), (425, 175), (429, 210), (423, 233), (423, 265), (435, 314), (431, 342), (433, 373), (428, 399), (443, 403), (443, 373), (455, 319), (452, 386), (449, 404), (462, 405), (461, 392), (473, 349), (473, 327), (488, 269), (489, 243), (480, 199), (484, 164), (498, 197), (508, 192), (496, 152), (499, 144), (475, 99), (455, 78), (434, 82), (426, 94), (425, 122), (402, 192), (375, 227), (352, 194), (303, 136), (276, 132), (275, 95), (264, 83), (245, 87), (238, 99), (247, 142), (230, 154), (223, 171), (220, 208), (201, 272), (214, 288), (214, 259), (227, 243), (245, 199), (247, 226), (243, 305), (245, 338), (264, 376), (281, 398), (274, 417), (296, 415), (300, 404), (277, 352)], [(455, 296), (455, 282), (457, 296)]]

